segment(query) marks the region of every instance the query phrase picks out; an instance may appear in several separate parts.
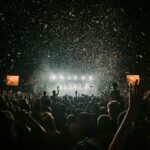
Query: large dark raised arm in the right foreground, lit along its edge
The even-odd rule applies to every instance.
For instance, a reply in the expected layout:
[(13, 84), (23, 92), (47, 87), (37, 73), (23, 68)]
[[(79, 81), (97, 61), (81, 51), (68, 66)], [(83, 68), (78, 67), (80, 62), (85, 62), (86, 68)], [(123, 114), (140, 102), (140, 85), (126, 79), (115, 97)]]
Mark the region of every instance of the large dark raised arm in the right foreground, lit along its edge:
[(132, 122), (135, 121), (138, 111), (140, 109), (141, 102), (143, 100), (143, 93), (141, 92), (137, 83), (134, 88), (130, 87), (129, 92), (129, 106), (127, 113), (118, 128), (108, 150), (122, 150), (130, 133)]

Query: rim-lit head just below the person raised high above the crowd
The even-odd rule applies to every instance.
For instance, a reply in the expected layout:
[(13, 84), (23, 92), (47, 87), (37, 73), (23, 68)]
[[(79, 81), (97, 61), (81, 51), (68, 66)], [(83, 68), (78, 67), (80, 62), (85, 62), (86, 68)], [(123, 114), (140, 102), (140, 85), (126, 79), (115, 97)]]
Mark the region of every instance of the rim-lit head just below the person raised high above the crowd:
[(108, 114), (110, 117), (114, 118), (117, 117), (120, 112), (120, 103), (116, 100), (110, 101), (107, 104)]

